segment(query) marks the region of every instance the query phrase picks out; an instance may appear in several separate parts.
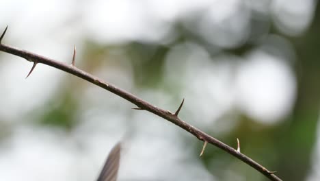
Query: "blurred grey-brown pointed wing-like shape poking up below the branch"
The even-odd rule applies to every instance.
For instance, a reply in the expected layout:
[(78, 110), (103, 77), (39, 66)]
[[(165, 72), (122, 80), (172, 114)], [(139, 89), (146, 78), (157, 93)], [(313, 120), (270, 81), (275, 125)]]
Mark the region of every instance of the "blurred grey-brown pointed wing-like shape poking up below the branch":
[(107, 161), (103, 166), (97, 181), (116, 181), (118, 176), (118, 169), (120, 164), (120, 149), (121, 144), (118, 143), (111, 149)]

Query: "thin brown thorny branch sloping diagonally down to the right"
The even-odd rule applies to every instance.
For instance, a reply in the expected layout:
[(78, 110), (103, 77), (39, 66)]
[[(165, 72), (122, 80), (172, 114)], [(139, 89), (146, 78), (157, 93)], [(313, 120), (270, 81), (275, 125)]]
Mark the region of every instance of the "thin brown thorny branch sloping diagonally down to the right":
[[(5, 29), (6, 30), (6, 29)], [(5, 33), (5, 32), (4, 32)], [(222, 143), (222, 141), (217, 140), (216, 138), (213, 138), (209, 134), (206, 134), (205, 132), (202, 132), (198, 128), (195, 128), (194, 126), (190, 125), (189, 123), (186, 123), (185, 121), (182, 121), (179, 119), (176, 114), (172, 114), (168, 110), (163, 110), (161, 108), (157, 108), (156, 106), (153, 106), (152, 104), (148, 103), (147, 101), (144, 101), (143, 99), (140, 99), (139, 97), (136, 97), (135, 95), (132, 95), (131, 93), (126, 92), (125, 90), (122, 90), (121, 88), (117, 88), (116, 86), (109, 84), (107, 82), (104, 82), (103, 80), (99, 79), (98, 77), (91, 75), (90, 73), (87, 73), (85, 71), (82, 71), (81, 69), (78, 69), (75, 66), (66, 64), (64, 62), (58, 62), (57, 60), (53, 60), (51, 58), (46, 58), (44, 56), (40, 56), (36, 53), (32, 53), (30, 51), (25, 51), (22, 49), (17, 49), (15, 47), (10, 47), (8, 45), (1, 44), (1, 40), (4, 36), (4, 33), (0, 37), (0, 51), (4, 51), (16, 56), (19, 56), (21, 58), (25, 58), (28, 61), (36, 62), (36, 63), (42, 63), (49, 65), (51, 67), (55, 67), (56, 69), (60, 69), (62, 71), (65, 71), (67, 73), (70, 73), (72, 75), (75, 75), (77, 77), (82, 78), (83, 80), (87, 80), (88, 82), (91, 82), (92, 84), (96, 84), (97, 86), (100, 86), (101, 88), (104, 88), (106, 90), (109, 90), (111, 93), (114, 93), (131, 103), (135, 104), (137, 108), (142, 110), (147, 110), (148, 112), (152, 112), (153, 114), (157, 114), (159, 117), (162, 117), (163, 119), (166, 119), (175, 125), (178, 125), (180, 128), (183, 128), (183, 130), (186, 130), (187, 132), (193, 134), (196, 136), (200, 141), (204, 141), (207, 143), (211, 143), (212, 145), (215, 145), (216, 147), (219, 147), (220, 149), (223, 149), (225, 152), (228, 152), (232, 156), (235, 156), (239, 160), (245, 162), (246, 164), (250, 165), (257, 171), (263, 173), (267, 178), (270, 180), (281, 180), (278, 178), (274, 171), (269, 171), (265, 169), (262, 165), (259, 165), (257, 162), (249, 158), (248, 156), (245, 156), (241, 152), (237, 152), (236, 149), (226, 145), (225, 143)], [(182, 104), (181, 104), (182, 106)], [(178, 109), (179, 110), (179, 109)], [(178, 113), (178, 112), (176, 112)]]

